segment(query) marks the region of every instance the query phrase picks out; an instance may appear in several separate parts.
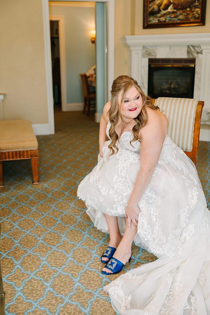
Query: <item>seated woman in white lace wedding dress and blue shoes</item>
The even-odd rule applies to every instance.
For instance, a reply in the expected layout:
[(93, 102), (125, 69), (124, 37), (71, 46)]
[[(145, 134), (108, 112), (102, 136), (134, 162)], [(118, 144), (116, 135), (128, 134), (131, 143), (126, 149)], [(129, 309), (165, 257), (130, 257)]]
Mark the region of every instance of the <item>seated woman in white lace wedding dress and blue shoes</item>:
[(78, 186), (94, 226), (110, 233), (102, 273), (130, 261), (133, 240), (159, 258), (105, 286), (118, 314), (210, 315), (210, 212), (195, 165), (167, 126), (134, 79), (117, 77), (98, 164)]

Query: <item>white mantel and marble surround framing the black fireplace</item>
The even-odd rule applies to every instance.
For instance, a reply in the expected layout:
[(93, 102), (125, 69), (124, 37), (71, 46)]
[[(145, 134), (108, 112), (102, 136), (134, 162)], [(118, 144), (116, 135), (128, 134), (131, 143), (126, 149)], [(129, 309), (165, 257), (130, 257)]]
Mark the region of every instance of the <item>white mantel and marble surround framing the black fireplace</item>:
[(147, 93), (149, 58), (196, 58), (194, 98), (204, 101), (200, 140), (210, 141), (210, 33), (122, 37), (128, 73)]

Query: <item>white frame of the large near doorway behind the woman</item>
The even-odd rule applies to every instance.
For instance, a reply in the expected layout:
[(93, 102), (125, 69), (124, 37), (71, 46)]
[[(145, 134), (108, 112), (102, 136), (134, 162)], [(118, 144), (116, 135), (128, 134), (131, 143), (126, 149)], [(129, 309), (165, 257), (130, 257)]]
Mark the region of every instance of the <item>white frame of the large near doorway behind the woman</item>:
[[(55, 1), (55, 0), (51, 0)], [(62, 0), (57, 0), (62, 1)], [(74, 0), (67, 0), (74, 1)], [(87, 2), (88, 0), (77, 0)], [(115, 17), (115, 0), (92, 0), (93, 2), (107, 2), (107, 95), (110, 95), (108, 91), (111, 89), (112, 82), (114, 80), (114, 17)], [(50, 44), (50, 26), (49, 26), (49, 3), (48, 0), (42, 0), (43, 5), (43, 28), (44, 28), (44, 48), (45, 48), (45, 69), (46, 69), (46, 83), (47, 83), (47, 102), (48, 102), (48, 124), (49, 133), (54, 134), (54, 108), (53, 108), (53, 79), (52, 79), (52, 63), (51, 63), (51, 44)]]

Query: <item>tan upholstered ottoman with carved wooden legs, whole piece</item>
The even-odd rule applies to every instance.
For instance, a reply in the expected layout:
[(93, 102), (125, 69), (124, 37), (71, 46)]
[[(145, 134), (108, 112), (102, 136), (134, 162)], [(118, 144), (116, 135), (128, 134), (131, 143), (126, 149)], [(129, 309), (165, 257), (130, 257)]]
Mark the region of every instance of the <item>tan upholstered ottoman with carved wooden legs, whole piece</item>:
[(30, 121), (0, 121), (0, 187), (4, 187), (2, 161), (29, 158), (32, 165), (33, 184), (39, 184), (38, 141)]

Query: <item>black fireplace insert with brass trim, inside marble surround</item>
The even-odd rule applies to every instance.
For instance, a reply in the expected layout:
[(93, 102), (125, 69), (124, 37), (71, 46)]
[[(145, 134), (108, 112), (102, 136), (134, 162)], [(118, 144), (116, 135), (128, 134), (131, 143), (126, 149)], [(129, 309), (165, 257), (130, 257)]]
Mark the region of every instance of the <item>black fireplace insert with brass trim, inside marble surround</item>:
[(193, 98), (195, 58), (149, 58), (148, 95)]

